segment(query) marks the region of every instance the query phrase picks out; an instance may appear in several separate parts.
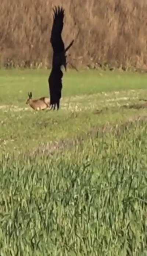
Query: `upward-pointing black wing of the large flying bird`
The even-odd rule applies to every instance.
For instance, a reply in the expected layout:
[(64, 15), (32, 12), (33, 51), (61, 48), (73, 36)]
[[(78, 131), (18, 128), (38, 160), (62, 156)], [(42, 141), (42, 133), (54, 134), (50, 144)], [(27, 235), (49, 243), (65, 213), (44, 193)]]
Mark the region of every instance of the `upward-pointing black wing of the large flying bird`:
[(55, 7), (54, 15), (53, 15), (53, 27), (51, 30), (51, 38), (50, 42), (53, 47), (54, 53), (64, 52), (64, 42), (61, 37), (62, 29), (63, 29), (63, 19), (64, 19), (64, 9), (61, 7)]

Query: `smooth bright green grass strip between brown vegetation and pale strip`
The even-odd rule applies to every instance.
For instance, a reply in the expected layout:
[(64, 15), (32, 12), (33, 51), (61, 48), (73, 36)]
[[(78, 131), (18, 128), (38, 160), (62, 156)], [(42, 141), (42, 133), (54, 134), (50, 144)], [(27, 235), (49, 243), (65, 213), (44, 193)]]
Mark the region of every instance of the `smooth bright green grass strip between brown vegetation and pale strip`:
[[(48, 95), (49, 70), (0, 70), (1, 104), (23, 105), (32, 91), (34, 97)], [(146, 73), (112, 71), (69, 71), (63, 78), (63, 97), (89, 95), (98, 92), (146, 89)]]

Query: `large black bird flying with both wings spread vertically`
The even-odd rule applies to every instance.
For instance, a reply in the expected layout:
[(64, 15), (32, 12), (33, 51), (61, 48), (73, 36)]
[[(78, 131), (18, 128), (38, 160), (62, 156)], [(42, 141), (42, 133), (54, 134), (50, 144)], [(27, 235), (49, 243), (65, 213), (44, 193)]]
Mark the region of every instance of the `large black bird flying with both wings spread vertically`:
[(61, 7), (54, 8), (53, 15), (53, 27), (51, 31), (50, 43), (53, 48), (53, 62), (52, 70), (49, 76), (49, 91), (50, 91), (50, 110), (60, 108), (60, 99), (62, 91), (62, 77), (63, 72), (61, 67), (64, 66), (65, 71), (67, 69), (67, 55), (66, 52), (71, 48), (73, 41), (67, 48), (64, 46), (64, 42), (61, 37), (63, 25), (64, 25), (64, 9)]

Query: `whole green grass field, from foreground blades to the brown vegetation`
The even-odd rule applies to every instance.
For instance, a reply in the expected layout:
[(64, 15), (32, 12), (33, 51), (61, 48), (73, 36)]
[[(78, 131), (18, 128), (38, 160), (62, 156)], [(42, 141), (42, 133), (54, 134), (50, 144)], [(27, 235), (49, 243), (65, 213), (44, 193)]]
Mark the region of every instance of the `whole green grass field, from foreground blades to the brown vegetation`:
[[(0, 255), (147, 255), (147, 74), (0, 70)], [(125, 107), (124, 107), (125, 105)]]

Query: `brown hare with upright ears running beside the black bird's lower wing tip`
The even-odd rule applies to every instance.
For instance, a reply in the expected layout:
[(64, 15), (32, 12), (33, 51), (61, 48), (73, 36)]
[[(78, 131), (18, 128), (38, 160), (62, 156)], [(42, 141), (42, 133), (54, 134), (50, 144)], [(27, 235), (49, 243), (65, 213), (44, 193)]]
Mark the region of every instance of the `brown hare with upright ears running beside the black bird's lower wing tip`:
[(32, 92), (28, 92), (29, 98), (26, 101), (26, 104), (29, 104), (31, 108), (35, 110), (44, 110), (49, 108), (50, 99), (48, 97), (42, 97), (40, 99), (32, 99)]

